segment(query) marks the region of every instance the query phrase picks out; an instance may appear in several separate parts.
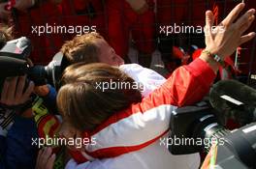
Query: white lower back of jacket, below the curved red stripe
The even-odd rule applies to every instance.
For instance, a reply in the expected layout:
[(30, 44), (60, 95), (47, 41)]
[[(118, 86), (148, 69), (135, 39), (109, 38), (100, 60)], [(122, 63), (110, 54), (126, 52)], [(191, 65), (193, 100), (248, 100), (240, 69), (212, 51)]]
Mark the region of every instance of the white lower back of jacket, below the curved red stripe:
[(199, 165), (198, 154), (172, 155), (157, 141), (141, 151), (114, 158), (97, 159), (80, 165), (72, 159), (66, 169), (197, 169)]

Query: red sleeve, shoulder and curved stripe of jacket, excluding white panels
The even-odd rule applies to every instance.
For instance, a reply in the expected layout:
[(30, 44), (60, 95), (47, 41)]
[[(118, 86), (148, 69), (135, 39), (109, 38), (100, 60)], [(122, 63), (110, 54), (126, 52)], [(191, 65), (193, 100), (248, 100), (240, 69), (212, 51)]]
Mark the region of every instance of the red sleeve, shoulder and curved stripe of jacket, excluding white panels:
[[(144, 113), (162, 104), (184, 106), (197, 102), (203, 99), (208, 93), (214, 78), (215, 74), (213, 70), (208, 67), (208, 64), (201, 59), (197, 59), (188, 66), (180, 67), (174, 71), (172, 76), (161, 86), (161, 88), (155, 90), (149, 97), (144, 98), (141, 103), (132, 104), (130, 108), (112, 115), (110, 119), (100, 127), (97, 127), (90, 135), (129, 117), (134, 113)], [(164, 133), (161, 133), (160, 136), (163, 134)], [(99, 158), (114, 157), (128, 152), (138, 151), (150, 145), (155, 140), (156, 138), (152, 138), (149, 142), (135, 147), (107, 148), (87, 154)], [(72, 155), (75, 159), (81, 159), (79, 152), (73, 152)]]

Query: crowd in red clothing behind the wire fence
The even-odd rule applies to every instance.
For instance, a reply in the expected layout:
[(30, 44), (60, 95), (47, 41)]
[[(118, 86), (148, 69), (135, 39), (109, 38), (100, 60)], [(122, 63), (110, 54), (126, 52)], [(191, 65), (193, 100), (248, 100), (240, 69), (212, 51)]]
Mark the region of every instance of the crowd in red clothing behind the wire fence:
[[(205, 26), (204, 13), (207, 10), (213, 12), (214, 23), (218, 24), (219, 20), (236, 6), (233, 0), (140, 0), (136, 2), (132, 0), (118, 2), (112, 0), (48, 0), (35, 1), (37, 2), (35, 4), (32, 2), (34, 3), (31, 0), (24, 0), (16, 1), (16, 4), (9, 3), (10, 11), (5, 10), (7, 2), (1, 3), (0, 17), (2, 21), (8, 21), (15, 27), (15, 37), (26, 36), (32, 41), (34, 50), (31, 59), (35, 64), (48, 64), (63, 42), (80, 34), (78, 29), (64, 31), (63, 26), (66, 28), (86, 26), (83, 27), (83, 32), (97, 31), (100, 33), (126, 62), (130, 60), (146, 68), (149, 68), (151, 63), (152, 65), (163, 64), (169, 73), (200, 55), (200, 49), (205, 48), (202, 42), (204, 33), (186, 30), (170, 33), (167, 36), (163, 34), (161, 28), (174, 27), (175, 24), (179, 27), (200, 26), (203, 28)], [(246, 4), (248, 7), (254, 7), (252, 1)], [(44, 32), (39, 38), (32, 28), (41, 27), (43, 31), (46, 29), (46, 23), (51, 27), (60, 26), (61, 33)], [(250, 30), (254, 29), (255, 24)], [(170, 31), (170, 29), (165, 31)], [(135, 58), (128, 57), (130, 46), (135, 46), (137, 49), (133, 54), (136, 55)], [(252, 44), (242, 46), (241, 55), (250, 56), (252, 53), (247, 48), (251, 47)], [(154, 51), (160, 51), (163, 63), (152, 58)], [(232, 60), (228, 59), (227, 62), (232, 65)], [(240, 57), (240, 68), (232, 69), (236, 72), (242, 70), (243, 74), (247, 74), (249, 62), (249, 57)]]

